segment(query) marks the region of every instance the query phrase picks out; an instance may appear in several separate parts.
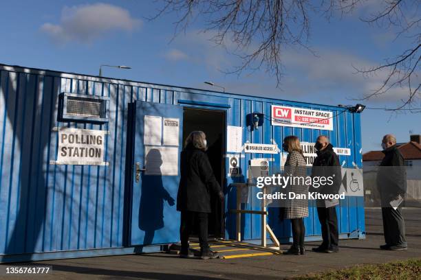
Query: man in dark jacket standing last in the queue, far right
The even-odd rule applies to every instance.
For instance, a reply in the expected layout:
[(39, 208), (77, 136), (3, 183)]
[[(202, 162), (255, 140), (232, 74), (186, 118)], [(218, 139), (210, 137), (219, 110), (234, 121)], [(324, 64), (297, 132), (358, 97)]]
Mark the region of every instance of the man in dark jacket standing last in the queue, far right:
[[(401, 205), (406, 192), (406, 172), (404, 159), (396, 148), (396, 138), (385, 135), (382, 139), (382, 148), (385, 157), (380, 163), (377, 173), (377, 187), (380, 191), (382, 203), (383, 231), (385, 245), (382, 250), (407, 250), (405, 238), (405, 224)], [(398, 208), (393, 209), (390, 204), (393, 200), (400, 202)]]

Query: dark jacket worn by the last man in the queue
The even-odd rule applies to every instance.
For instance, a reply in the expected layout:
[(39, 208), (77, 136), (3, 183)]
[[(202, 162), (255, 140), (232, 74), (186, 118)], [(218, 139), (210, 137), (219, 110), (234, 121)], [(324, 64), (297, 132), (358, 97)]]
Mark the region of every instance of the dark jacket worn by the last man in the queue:
[(404, 158), (396, 145), (382, 151), (385, 154), (377, 172), (377, 187), (382, 202), (389, 203), (400, 195), (404, 197), (407, 191), (407, 174), (404, 168)]

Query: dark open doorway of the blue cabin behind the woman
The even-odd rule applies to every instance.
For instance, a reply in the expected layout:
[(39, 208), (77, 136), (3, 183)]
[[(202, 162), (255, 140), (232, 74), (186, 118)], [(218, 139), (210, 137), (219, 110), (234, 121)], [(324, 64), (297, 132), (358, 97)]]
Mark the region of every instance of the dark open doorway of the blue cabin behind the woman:
[[(219, 185), (224, 185), (224, 150), (226, 116), (224, 110), (208, 110), (200, 108), (184, 108), (183, 143), (188, 134), (194, 130), (202, 130), (208, 142), (208, 158)], [(216, 196), (210, 197), (212, 213), (209, 215), (208, 234), (223, 237), (224, 202)]]

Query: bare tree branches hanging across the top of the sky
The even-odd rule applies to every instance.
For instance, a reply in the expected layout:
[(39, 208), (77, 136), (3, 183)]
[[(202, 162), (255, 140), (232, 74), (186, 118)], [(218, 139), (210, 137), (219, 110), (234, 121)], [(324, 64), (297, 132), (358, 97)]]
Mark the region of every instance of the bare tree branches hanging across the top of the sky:
[[(334, 14), (348, 14), (362, 7), (366, 0), (162, 0), (164, 5), (156, 19), (166, 12), (175, 12), (175, 36), (186, 31), (193, 18), (201, 16), (206, 32), (213, 31), (217, 45), (230, 45), (230, 51), (241, 60), (240, 65), (225, 73), (241, 74), (264, 67), (277, 78), (283, 77), (282, 56), (287, 47), (302, 47), (314, 54), (308, 45), (310, 19), (319, 14), (328, 20)], [(402, 54), (368, 69), (357, 69), (363, 75), (385, 77), (374, 92), (360, 100), (383, 95), (396, 89), (407, 89), (407, 98), (396, 110), (410, 109), (420, 100), (420, 0), (384, 0), (379, 12), (361, 19), (368, 24), (393, 28), (396, 40), (412, 38), (413, 45)], [(234, 47), (232, 47), (234, 46)]]

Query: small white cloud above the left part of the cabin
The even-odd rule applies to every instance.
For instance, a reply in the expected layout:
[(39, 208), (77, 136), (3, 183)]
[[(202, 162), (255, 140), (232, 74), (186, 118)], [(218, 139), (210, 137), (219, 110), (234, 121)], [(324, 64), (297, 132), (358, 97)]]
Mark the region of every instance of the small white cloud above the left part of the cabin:
[(60, 23), (44, 23), (41, 31), (56, 43), (91, 43), (109, 32), (133, 32), (141, 23), (116, 5), (94, 3), (63, 8)]

